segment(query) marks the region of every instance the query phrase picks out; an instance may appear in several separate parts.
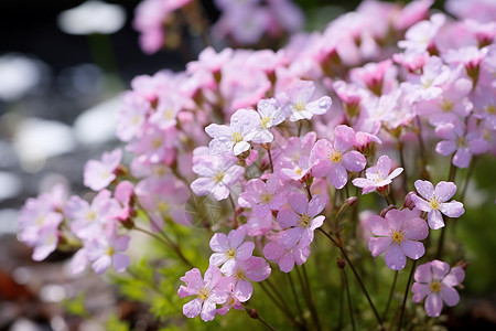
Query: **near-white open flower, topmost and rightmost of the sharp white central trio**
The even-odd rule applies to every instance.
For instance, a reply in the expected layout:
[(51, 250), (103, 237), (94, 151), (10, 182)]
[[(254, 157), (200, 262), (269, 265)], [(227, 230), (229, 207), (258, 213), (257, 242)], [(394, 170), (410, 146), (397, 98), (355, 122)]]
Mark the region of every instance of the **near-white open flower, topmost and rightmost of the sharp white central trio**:
[(291, 121), (300, 119), (312, 119), (314, 115), (327, 113), (332, 99), (323, 96), (317, 100), (310, 102), (315, 90), (315, 84), (310, 81), (294, 82), (287, 93), (277, 95), (277, 99), (282, 104), (282, 111), (290, 117)]

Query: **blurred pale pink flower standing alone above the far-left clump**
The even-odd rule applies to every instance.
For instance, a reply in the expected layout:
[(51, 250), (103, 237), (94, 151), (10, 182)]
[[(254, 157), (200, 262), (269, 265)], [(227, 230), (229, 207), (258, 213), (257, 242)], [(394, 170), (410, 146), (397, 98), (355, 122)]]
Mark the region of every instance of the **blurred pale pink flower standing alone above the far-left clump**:
[(122, 150), (117, 148), (111, 152), (105, 152), (101, 161), (89, 160), (85, 166), (85, 186), (93, 191), (107, 188), (116, 179), (116, 171), (121, 159)]

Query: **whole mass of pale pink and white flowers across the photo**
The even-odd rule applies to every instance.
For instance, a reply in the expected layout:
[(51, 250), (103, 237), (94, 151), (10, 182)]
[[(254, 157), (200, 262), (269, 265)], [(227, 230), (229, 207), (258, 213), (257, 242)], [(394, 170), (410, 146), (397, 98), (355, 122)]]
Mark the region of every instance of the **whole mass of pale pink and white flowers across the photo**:
[[(294, 13), (288, 1), (267, 2), (266, 11), (277, 4)], [(496, 154), (496, 33), (494, 22), (476, 17), (429, 15), (432, 2), (401, 8), (365, 1), (324, 32), (299, 34), (277, 52), (207, 47), (185, 72), (136, 77), (122, 96), (117, 128), (130, 164), (122, 164), (120, 150), (89, 161), (84, 182), (95, 191), (91, 202), (67, 199), (60, 189), (29, 200), (21, 239), (37, 260), (69, 245), (78, 248), (74, 270), (91, 264), (97, 273), (110, 265), (120, 271), (129, 264), (122, 252), (133, 231), (165, 237), (187, 263), (165, 233), (173, 223), (202, 224), (215, 233), (214, 253), (203, 278), (188, 264), (177, 295), (195, 296), (183, 312), (204, 321), (247, 309), (252, 282), (298, 273), (321, 247), (315, 232), (346, 264), (349, 249), (368, 247), (400, 271), (407, 257), (413, 266), (421, 257), (433, 259), (429, 242), (438, 238), (439, 258), (443, 236), (431, 234), (465, 212), (452, 200), (465, 195), (456, 186), (457, 169), (474, 167), (476, 156)], [(449, 8), (457, 8), (454, 2)], [(227, 14), (238, 2), (216, 3)], [(269, 31), (284, 25), (248, 23)], [(218, 24), (240, 42), (262, 33), (238, 35), (224, 17)], [(448, 181), (434, 169), (440, 164)], [(366, 199), (387, 207), (367, 211), (360, 242), (353, 226)], [(209, 206), (222, 211), (215, 224), (203, 222)], [(428, 316), (439, 316), (443, 301), (456, 305), (461, 267), (450, 271), (434, 259), (412, 273), (413, 301), (427, 297)]]

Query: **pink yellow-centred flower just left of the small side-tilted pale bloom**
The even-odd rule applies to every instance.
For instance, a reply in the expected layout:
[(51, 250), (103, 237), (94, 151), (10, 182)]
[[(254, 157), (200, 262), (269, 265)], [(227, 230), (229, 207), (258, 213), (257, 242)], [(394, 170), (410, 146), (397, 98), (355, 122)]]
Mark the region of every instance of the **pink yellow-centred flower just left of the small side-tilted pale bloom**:
[(348, 182), (346, 171), (362, 171), (367, 161), (360, 152), (348, 151), (356, 142), (355, 130), (344, 125), (337, 126), (334, 136), (334, 143), (326, 139), (315, 142), (310, 161), (313, 175), (328, 177), (331, 184), (341, 190)]

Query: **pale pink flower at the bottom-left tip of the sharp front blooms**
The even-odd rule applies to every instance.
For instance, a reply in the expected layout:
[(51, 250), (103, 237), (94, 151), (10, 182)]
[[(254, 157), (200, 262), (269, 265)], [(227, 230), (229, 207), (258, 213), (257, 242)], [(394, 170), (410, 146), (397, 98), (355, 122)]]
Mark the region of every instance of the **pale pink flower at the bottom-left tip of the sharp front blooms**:
[(229, 277), (223, 277), (217, 267), (209, 266), (205, 271), (205, 279), (197, 268), (193, 268), (180, 278), (186, 284), (177, 290), (180, 298), (195, 296), (183, 306), (183, 313), (188, 318), (200, 314), (202, 320), (212, 321), (215, 318), (216, 305), (226, 302), (229, 291)]

